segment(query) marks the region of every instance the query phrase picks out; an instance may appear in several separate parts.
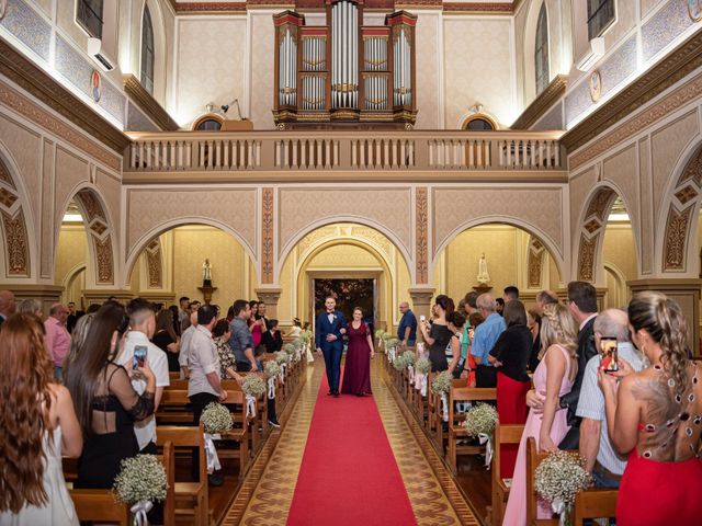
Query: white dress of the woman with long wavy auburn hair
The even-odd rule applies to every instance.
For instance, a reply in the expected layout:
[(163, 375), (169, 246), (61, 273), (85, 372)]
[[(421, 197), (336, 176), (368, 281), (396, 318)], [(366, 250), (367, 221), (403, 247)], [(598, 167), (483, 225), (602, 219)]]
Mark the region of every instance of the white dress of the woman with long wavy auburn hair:
[(78, 515), (64, 479), (60, 426), (54, 430), (53, 443), (48, 439), (48, 433), (44, 435), (44, 489), (48, 498), (46, 504), (43, 507), (25, 505), (16, 515), (2, 512), (0, 526), (79, 526)]

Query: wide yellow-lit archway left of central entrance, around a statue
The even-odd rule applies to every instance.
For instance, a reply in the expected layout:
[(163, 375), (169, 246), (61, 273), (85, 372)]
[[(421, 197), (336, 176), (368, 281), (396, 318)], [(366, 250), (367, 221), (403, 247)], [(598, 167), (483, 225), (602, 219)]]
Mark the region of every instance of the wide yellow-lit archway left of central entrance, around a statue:
[(204, 224), (166, 227), (151, 236), (131, 259), (128, 286), (135, 296), (158, 302), (177, 302), (182, 296), (204, 301), (203, 264), (212, 272), (211, 302), (224, 313), (236, 299), (256, 298), (256, 266), (231, 233)]

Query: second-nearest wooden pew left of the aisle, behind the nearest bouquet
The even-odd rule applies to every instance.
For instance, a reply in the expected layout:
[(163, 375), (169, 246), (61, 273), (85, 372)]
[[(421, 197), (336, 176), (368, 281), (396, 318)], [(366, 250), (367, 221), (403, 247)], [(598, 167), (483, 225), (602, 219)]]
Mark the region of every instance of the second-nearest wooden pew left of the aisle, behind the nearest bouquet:
[[(178, 482), (173, 484), (176, 515), (188, 515), (192, 524), (210, 526), (210, 500), (207, 494), (207, 460), (205, 458), (205, 430), (199, 427), (159, 425), (156, 428), (158, 446), (171, 442), (176, 448), (186, 448), (190, 451), (197, 448), (200, 472), (196, 482)], [(183, 506), (183, 507), (180, 507)]]

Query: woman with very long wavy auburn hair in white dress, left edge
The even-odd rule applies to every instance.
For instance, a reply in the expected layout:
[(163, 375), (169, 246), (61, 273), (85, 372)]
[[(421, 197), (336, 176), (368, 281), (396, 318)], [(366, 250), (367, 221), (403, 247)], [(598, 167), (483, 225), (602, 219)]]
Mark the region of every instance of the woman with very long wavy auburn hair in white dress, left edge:
[(11, 316), (0, 348), (0, 524), (78, 526), (61, 456), (78, 457), (83, 441), (68, 389), (54, 382), (41, 320)]

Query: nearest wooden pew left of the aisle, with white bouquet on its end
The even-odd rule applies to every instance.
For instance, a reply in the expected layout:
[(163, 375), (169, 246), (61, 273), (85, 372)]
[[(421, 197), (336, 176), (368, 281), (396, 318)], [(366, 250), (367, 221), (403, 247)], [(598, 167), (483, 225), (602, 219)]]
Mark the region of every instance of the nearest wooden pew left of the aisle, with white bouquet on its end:
[[(163, 526), (176, 526), (176, 453), (173, 443), (163, 444), (163, 454), (159, 455), (159, 460), (166, 470), (166, 501), (163, 502)], [(69, 490), (70, 498), (76, 507), (76, 514), (81, 522), (109, 523), (128, 526), (129, 506), (121, 504), (115, 500), (112, 490)]]

